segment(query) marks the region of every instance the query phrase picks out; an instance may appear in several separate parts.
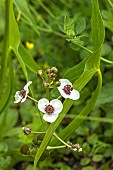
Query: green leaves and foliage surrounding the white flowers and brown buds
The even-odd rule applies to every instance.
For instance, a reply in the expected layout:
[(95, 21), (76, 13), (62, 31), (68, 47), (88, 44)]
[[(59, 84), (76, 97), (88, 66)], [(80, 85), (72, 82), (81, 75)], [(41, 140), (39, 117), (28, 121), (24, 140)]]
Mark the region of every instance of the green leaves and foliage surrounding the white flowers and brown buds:
[[(1, 0), (0, 9), (0, 170), (112, 169), (112, 0), (99, 4), (98, 0)], [(48, 126), (31, 101), (15, 105), (14, 94), (32, 80), (31, 95), (45, 97), (36, 73), (51, 66), (59, 70), (57, 79), (69, 79), (81, 98), (66, 99), (60, 116)], [(51, 98), (58, 95), (56, 89), (51, 91)], [(47, 130), (34, 158), (20, 153), (22, 144), (31, 144), (34, 138), (22, 133), (26, 124), (34, 131)], [(48, 144), (61, 144), (52, 137), (54, 131), (65, 141), (80, 143), (83, 151), (54, 150), (39, 161)]]

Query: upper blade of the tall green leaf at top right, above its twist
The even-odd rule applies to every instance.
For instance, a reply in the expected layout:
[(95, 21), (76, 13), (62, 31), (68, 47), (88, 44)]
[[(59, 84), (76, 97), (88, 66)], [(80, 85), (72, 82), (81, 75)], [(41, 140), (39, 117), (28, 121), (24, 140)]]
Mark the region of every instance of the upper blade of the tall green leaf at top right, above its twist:
[(94, 50), (97, 50), (103, 44), (104, 31), (98, 0), (92, 0), (91, 35), (94, 43)]

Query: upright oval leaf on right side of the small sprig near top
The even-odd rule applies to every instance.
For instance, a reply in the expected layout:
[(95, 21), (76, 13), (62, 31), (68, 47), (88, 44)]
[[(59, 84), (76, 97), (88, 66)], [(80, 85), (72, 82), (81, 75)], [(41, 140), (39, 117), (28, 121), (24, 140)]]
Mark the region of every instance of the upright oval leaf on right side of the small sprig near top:
[(78, 24), (77, 24), (77, 26), (76, 26), (76, 34), (81, 34), (84, 30), (85, 30), (85, 28), (86, 28), (86, 21), (85, 21), (85, 19), (81, 19), (79, 22), (78, 22)]

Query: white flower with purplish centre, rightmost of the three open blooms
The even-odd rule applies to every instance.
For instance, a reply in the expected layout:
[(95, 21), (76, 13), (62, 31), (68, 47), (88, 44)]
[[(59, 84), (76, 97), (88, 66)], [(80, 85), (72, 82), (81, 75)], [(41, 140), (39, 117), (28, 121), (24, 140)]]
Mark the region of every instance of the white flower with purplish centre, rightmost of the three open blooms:
[(57, 88), (64, 98), (69, 98), (72, 100), (77, 100), (80, 98), (80, 93), (73, 89), (72, 83), (69, 80), (60, 79), (59, 81), (61, 84)]

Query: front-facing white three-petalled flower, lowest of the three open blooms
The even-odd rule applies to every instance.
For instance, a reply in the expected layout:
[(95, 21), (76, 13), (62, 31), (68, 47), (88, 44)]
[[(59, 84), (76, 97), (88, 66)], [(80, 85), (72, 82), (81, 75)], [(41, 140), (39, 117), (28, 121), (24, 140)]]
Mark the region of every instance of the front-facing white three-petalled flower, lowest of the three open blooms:
[(54, 122), (58, 114), (62, 111), (63, 105), (62, 102), (58, 99), (51, 100), (50, 102), (43, 98), (38, 101), (38, 109), (45, 113), (43, 119), (47, 122)]

